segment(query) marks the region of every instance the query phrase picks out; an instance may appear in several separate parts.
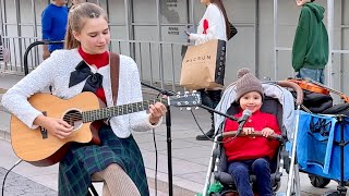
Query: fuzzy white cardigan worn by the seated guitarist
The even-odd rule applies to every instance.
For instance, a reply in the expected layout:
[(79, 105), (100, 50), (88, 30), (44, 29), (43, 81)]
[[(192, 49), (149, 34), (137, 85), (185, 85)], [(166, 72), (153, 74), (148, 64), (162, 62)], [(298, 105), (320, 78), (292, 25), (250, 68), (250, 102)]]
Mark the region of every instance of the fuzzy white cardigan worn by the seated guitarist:
[[(28, 127), (36, 128), (34, 120), (41, 114), (33, 108), (27, 98), (38, 91), (44, 91), (49, 85), (53, 87), (53, 95), (62, 99), (70, 99), (80, 94), (85, 85), (85, 81), (69, 88), (71, 72), (82, 61), (82, 57), (76, 49), (57, 50), (51, 57), (44, 61), (27, 76), (10, 88), (2, 97), (2, 105), (10, 112), (16, 115)], [(113, 106), (110, 86), (110, 66), (103, 66), (92, 72), (98, 72), (103, 77), (103, 88), (106, 94), (107, 106)], [(119, 93), (117, 105), (127, 105), (142, 101), (142, 90), (140, 74), (136, 63), (127, 56), (120, 56)], [(160, 122), (158, 123), (160, 124)], [(147, 131), (153, 126), (149, 123), (148, 114), (145, 111), (125, 115), (113, 117), (110, 125), (118, 137), (125, 138), (133, 131)]]

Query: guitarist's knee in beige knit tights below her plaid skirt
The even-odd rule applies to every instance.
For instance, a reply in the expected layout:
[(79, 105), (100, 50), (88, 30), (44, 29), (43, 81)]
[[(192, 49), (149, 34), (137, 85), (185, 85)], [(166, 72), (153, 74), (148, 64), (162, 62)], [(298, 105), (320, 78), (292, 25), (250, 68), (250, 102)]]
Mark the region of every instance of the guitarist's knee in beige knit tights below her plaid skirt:
[(93, 174), (94, 180), (104, 180), (103, 195), (141, 195), (130, 176), (123, 169), (111, 163), (106, 169)]

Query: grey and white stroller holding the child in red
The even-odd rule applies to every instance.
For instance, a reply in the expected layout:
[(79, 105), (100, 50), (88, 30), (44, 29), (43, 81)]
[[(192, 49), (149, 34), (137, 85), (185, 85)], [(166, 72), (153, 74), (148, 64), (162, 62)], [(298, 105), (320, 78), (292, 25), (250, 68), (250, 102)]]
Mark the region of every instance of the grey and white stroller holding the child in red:
[[(279, 149), (273, 159), (273, 161), (276, 162), (276, 169), (272, 171), (270, 174), (273, 191), (276, 192), (280, 186), (280, 176), (282, 174), (282, 168), (280, 166), (285, 166), (284, 158), (287, 158), (286, 161), (290, 161), (288, 154), (285, 154), (285, 142), (291, 139), (293, 131), (298, 128), (296, 127), (298, 125), (298, 117), (297, 111), (294, 110), (293, 97), (291, 93), (284, 87), (292, 88), (298, 93), (297, 106), (300, 106), (302, 103), (303, 93), (297, 84), (286, 81), (265, 82), (262, 83), (262, 86), (265, 94), (265, 99), (263, 100), (261, 110), (264, 112), (273, 113), (277, 117), (278, 124), (282, 133), (280, 137), (274, 137), (274, 139), (278, 139), (280, 142)], [(234, 102), (234, 96), (236, 85), (231, 84), (226, 88), (220, 102), (216, 107), (216, 110), (229, 115), (233, 115), (234, 113), (237, 113), (239, 106)], [(237, 188), (233, 179), (227, 172), (227, 158), (221, 145), (222, 137), (226, 137), (228, 135), (228, 133), (222, 133), (222, 126), (225, 124), (224, 122), (225, 117), (215, 114), (216, 137), (214, 139), (205, 186), (203, 189), (204, 196), (218, 196), (228, 194), (237, 195)], [(214, 174), (213, 183), (212, 174)], [(252, 183), (252, 187), (254, 187), (253, 184), (256, 181), (255, 175), (251, 174), (250, 181)]]

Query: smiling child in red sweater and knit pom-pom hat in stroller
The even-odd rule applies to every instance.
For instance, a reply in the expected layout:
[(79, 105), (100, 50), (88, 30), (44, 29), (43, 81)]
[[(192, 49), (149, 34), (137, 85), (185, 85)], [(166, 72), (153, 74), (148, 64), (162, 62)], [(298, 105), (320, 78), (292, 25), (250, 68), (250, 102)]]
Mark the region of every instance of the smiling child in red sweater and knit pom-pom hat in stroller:
[[(275, 170), (273, 157), (279, 146), (269, 135), (280, 135), (280, 128), (275, 115), (262, 112), (263, 88), (261, 82), (250, 73), (249, 69), (238, 71), (236, 101), (240, 111), (234, 118), (240, 119), (244, 110), (250, 110), (252, 115), (245, 122), (242, 135), (246, 137), (225, 138), (224, 148), (228, 159), (228, 172), (233, 177), (239, 195), (253, 196), (250, 184), (250, 173), (256, 175), (258, 195), (273, 195), (270, 171)], [(237, 131), (238, 122), (227, 119), (224, 132)], [(261, 132), (263, 137), (249, 136)]]

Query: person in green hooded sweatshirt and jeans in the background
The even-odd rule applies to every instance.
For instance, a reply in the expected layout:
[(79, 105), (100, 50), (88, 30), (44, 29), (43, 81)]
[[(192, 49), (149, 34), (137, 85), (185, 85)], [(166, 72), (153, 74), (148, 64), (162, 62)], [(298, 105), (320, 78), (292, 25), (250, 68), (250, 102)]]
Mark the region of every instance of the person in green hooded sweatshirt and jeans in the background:
[(324, 84), (328, 61), (328, 35), (324, 25), (325, 9), (315, 0), (296, 0), (301, 13), (292, 47), (292, 66), (297, 77)]

